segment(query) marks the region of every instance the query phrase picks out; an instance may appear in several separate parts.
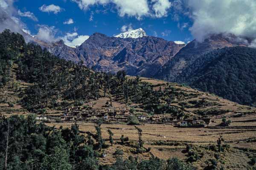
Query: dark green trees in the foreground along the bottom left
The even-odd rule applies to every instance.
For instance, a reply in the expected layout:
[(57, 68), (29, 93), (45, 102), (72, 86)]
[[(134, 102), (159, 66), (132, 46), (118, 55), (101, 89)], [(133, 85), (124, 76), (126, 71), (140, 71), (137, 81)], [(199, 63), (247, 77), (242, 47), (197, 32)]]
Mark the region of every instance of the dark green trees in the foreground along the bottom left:
[[(98, 130), (97, 130), (98, 131)], [(100, 135), (99, 132), (95, 136)], [(156, 157), (124, 159), (120, 151), (116, 162), (100, 165), (99, 141), (70, 129), (37, 123), (34, 115), (0, 117), (0, 170), (194, 170), (179, 159), (164, 161)], [(111, 147), (110, 145), (107, 147)]]

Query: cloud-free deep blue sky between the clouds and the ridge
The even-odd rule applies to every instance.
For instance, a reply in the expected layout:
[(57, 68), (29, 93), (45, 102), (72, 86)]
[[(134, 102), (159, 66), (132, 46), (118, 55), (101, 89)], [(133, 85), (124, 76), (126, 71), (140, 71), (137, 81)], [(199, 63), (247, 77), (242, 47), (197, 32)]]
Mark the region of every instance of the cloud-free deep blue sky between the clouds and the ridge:
[[(78, 0), (79, 1), (79, 0)], [(54, 26), (55, 37), (63, 37), (67, 33), (76, 32), (78, 35), (91, 35), (100, 32), (108, 36), (119, 34), (122, 26), (131, 28), (143, 28), (148, 35), (162, 37), (172, 41), (191, 41), (193, 39), (188, 30), (191, 21), (188, 17), (181, 17), (175, 21), (171, 8), (163, 16), (151, 16), (148, 14), (120, 14), (115, 3), (95, 3), (86, 6), (86, 9), (79, 8), (76, 0), (17, 0), (13, 6), (21, 13), (27, 11), (34, 14), (37, 20), (31, 17), (20, 15), (20, 20), (26, 24), (27, 29), (32, 35), (38, 33), (41, 25)], [(82, 1), (82, 0), (81, 0)], [(92, 1), (92, 0), (88, 0)], [(100, 0), (99, 0), (100, 1)], [(168, 0), (167, 0), (168, 1)], [(61, 8), (57, 11), (41, 10), (40, 7), (55, 5)], [(136, 4), (135, 4), (136, 5)], [(124, 9), (125, 10), (125, 9)], [(132, 11), (130, 12), (132, 13)], [(72, 24), (64, 24), (65, 21), (72, 19)], [(185, 25), (184, 25), (185, 24)], [(180, 25), (178, 28), (178, 25)], [(186, 28), (181, 28), (182, 26)]]

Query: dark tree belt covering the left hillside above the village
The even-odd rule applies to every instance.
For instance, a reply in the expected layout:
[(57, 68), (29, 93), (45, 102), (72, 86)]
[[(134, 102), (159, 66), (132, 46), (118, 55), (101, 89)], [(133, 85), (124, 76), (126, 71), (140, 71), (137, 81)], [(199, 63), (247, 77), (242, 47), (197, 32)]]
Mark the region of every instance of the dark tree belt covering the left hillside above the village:
[[(25, 91), (20, 90), (21, 103), (28, 111), (38, 112), (45, 108), (64, 109), (70, 102), (84, 102), (103, 96), (114, 97), (126, 104), (140, 103), (148, 113), (174, 113), (182, 110), (170, 103), (182, 96), (168, 85), (163, 91), (155, 91), (154, 85), (141, 82), (140, 77), (129, 79), (125, 71), (117, 74), (93, 72), (80, 62), (75, 64), (50, 54), (39, 45), (26, 44), (20, 34), (9, 30), (0, 34), (0, 85), (4, 87), (11, 79), (28, 83)], [(19, 89), (19, 88), (17, 88)]]

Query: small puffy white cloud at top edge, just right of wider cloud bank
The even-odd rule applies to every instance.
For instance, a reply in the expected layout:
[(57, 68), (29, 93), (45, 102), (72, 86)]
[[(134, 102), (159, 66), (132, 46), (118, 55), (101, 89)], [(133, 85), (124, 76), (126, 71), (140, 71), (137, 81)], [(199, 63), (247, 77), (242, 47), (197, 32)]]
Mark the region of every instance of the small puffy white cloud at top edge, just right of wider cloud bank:
[(166, 17), (169, 8), (171, 8), (172, 3), (169, 0), (152, 0), (154, 5), (152, 6), (155, 16), (157, 18)]

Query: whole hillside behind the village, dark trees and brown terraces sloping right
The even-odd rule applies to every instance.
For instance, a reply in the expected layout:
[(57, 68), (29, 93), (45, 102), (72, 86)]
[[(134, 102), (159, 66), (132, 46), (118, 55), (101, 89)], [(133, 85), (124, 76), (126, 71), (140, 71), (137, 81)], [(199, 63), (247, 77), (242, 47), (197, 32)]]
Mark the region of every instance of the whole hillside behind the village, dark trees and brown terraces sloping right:
[(104, 97), (151, 115), (211, 116), (248, 109), (175, 83), (127, 77), (124, 71), (93, 72), (82, 63), (59, 59), (38, 45), (26, 44), (20, 34), (10, 31), (3, 31), (0, 40), (2, 112), (63, 111)]

